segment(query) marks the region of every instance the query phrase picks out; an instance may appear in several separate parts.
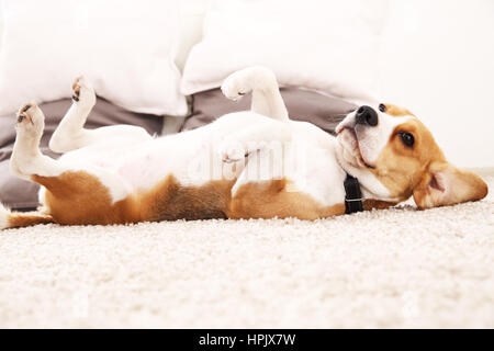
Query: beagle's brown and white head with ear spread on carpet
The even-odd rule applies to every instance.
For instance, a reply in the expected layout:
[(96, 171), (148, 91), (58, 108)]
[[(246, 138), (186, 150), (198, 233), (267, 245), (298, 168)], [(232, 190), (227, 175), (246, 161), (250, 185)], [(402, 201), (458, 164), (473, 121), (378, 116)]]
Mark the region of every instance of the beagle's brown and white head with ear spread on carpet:
[(487, 194), (479, 176), (446, 160), (429, 129), (406, 109), (361, 106), (336, 133), (344, 169), (382, 200), (404, 201), (413, 195), (419, 208), (429, 208)]

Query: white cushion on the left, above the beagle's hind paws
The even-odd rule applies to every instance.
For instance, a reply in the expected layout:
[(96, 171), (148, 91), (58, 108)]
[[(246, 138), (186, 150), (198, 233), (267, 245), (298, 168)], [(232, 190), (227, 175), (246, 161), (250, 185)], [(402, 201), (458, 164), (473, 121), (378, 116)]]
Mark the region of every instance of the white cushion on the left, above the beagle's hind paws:
[(4, 0), (0, 114), (70, 95), (85, 75), (127, 110), (181, 115), (178, 4), (162, 0)]

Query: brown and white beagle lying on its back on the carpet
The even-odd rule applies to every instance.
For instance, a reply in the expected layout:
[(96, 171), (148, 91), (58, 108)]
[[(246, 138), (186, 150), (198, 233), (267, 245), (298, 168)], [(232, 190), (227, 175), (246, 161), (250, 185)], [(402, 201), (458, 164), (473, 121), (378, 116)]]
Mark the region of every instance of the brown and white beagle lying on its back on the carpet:
[(42, 206), (34, 213), (1, 207), (0, 228), (317, 219), (384, 208), (411, 196), (418, 208), (429, 208), (487, 194), (479, 176), (446, 160), (430, 132), (406, 109), (363, 105), (346, 116), (334, 137), (289, 120), (277, 79), (266, 68), (237, 71), (222, 90), (234, 100), (251, 91), (251, 111), (154, 138), (130, 125), (86, 129), (96, 95), (79, 78), (72, 105), (49, 141), (52, 150), (64, 154), (58, 160), (38, 148), (43, 112), (34, 103), (22, 106), (10, 167), (42, 185)]

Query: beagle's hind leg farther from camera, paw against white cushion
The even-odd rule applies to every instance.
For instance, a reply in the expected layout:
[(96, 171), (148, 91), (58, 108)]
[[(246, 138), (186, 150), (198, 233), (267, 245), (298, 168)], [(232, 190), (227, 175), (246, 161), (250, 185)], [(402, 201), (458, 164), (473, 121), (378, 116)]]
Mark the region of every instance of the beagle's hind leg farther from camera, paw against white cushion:
[(72, 105), (49, 140), (49, 148), (55, 152), (68, 152), (81, 147), (109, 141), (114, 138), (125, 138), (127, 143), (150, 139), (151, 136), (142, 127), (132, 125), (104, 126), (97, 129), (86, 129), (85, 123), (96, 104), (92, 87), (79, 77), (72, 83)]

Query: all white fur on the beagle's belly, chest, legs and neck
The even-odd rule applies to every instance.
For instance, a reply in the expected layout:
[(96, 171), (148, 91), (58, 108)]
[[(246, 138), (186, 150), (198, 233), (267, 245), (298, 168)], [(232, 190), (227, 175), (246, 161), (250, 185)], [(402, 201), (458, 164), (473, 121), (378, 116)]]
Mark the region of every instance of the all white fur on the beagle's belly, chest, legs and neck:
[(234, 99), (252, 90), (254, 111), (227, 114), (202, 128), (160, 138), (133, 126), (85, 129), (94, 93), (85, 80), (79, 80), (78, 88), (80, 100), (74, 102), (49, 144), (66, 154), (57, 161), (41, 155), (37, 144), (43, 113), (32, 107), (29, 114), (36, 127), (26, 121), (18, 127), (11, 160), (16, 174), (29, 178), (83, 170), (110, 189), (114, 202), (153, 189), (170, 174), (183, 185), (236, 179), (233, 196), (248, 182), (285, 178), (288, 191), (330, 206), (344, 203), (343, 183), (350, 171), (358, 176), (366, 195), (389, 199), (370, 172), (341, 161), (344, 147), (335, 137), (310, 123), (288, 118), (274, 76), (265, 68), (238, 71), (223, 86), (225, 94)]

